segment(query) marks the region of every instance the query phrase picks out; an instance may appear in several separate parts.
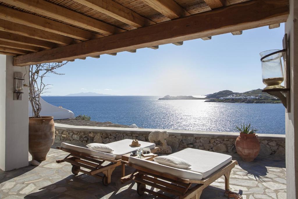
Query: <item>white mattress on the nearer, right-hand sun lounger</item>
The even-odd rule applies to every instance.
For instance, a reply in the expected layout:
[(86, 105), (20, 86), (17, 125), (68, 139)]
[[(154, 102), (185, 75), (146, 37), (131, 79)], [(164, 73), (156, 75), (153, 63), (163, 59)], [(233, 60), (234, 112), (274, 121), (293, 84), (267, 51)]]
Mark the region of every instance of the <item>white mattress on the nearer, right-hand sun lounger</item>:
[(191, 166), (188, 169), (177, 169), (134, 157), (130, 157), (129, 162), (180, 178), (202, 180), (232, 160), (230, 155), (191, 148), (170, 154), (170, 156), (183, 158)]

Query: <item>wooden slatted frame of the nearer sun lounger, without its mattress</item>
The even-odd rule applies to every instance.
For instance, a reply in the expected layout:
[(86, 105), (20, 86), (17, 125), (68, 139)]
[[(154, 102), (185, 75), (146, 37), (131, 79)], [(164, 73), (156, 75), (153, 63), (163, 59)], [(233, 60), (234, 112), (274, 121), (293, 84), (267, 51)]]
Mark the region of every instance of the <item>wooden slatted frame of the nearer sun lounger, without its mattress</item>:
[[(203, 189), (223, 175), (225, 177), (225, 189), (226, 191), (229, 191), (230, 173), (236, 164), (238, 164), (237, 161), (233, 160), (211, 174), (208, 178), (202, 180), (191, 180), (179, 178), (174, 175), (165, 174), (128, 162), (129, 166), (132, 166), (136, 169), (131, 174), (130, 179), (136, 181), (137, 192), (139, 195), (144, 194), (144, 192), (148, 192), (152, 195), (166, 199), (169, 199), (170, 197), (162, 193), (146, 189), (146, 185), (174, 194), (179, 198), (198, 199), (200, 198)], [(197, 185), (190, 188), (193, 183)]]

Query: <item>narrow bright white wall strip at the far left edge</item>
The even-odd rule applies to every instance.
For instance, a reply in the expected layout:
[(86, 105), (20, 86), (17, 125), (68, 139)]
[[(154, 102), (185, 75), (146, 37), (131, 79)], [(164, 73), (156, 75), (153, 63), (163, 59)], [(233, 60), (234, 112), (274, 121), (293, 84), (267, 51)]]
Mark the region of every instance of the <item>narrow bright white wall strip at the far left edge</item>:
[(0, 55), (0, 169), (5, 169), (6, 56)]

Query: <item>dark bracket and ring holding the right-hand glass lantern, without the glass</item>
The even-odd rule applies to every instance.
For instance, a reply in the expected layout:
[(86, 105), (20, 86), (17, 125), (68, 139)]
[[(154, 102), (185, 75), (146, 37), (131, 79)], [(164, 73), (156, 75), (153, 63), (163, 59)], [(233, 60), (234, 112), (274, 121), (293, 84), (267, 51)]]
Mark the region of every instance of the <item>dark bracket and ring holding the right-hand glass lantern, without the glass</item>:
[[(264, 89), (262, 92), (267, 92), (270, 95), (273, 95), (280, 99), (283, 103), (283, 106), (286, 109), (286, 112), (291, 112), (290, 104), (290, 63), (289, 63), (289, 49), (288, 49), (288, 36), (285, 34), (283, 37), (283, 50), (271, 53), (267, 56), (270, 56), (275, 53), (283, 52), (283, 61), (284, 61), (284, 78), (285, 78), (285, 88), (273, 88), (273, 89)], [(267, 57), (266, 56), (266, 57)], [(263, 57), (265, 58), (265, 57)], [(263, 59), (262, 58), (262, 59)], [(262, 60), (261, 59), (261, 60)]]

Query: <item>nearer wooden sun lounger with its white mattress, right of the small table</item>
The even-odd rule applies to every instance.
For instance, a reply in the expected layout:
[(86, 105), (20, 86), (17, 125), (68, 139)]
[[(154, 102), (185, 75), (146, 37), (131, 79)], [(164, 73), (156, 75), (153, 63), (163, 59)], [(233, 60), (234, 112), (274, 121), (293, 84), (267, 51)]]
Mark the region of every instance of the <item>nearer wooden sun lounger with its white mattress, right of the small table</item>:
[[(235, 196), (235, 193), (229, 191), (229, 176), (232, 168), (238, 164), (237, 161), (232, 161), (232, 156), (191, 148), (170, 156), (182, 158), (191, 166), (188, 169), (177, 169), (154, 161), (129, 158), (128, 165), (136, 169), (130, 179), (136, 181), (139, 195), (148, 192), (160, 198), (169, 198), (161, 192), (147, 189), (146, 185), (148, 185), (179, 198), (198, 199), (204, 188), (224, 175), (225, 194), (230, 197)], [(236, 195), (235, 198), (238, 196)]]

